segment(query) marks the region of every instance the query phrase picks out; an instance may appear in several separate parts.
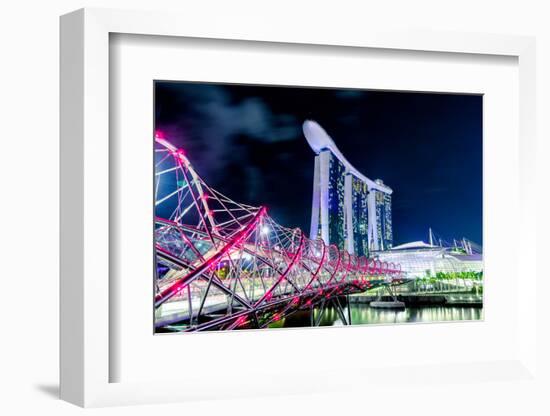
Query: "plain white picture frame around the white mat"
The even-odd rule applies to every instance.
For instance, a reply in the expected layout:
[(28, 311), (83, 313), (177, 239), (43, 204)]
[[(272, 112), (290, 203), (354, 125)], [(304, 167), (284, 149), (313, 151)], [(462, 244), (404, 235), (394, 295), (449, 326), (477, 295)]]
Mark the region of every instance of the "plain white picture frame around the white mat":
[[(282, 45), (332, 45), (340, 48), (427, 51), (441, 54), (504, 55), (515, 57), (519, 67), (519, 193), (524, 198), (519, 212), (528, 212), (535, 177), (535, 41), (530, 37), (468, 33), (396, 32), (361, 29), (334, 31), (312, 25), (304, 32), (298, 25), (284, 31), (273, 24), (239, 26), (212, 17), (202, 19), (171, 13), (147, 13), (106, 9), (83, 9), (61, 18), (61, 398), (80, 406), (183, 401), (197, 398), (239, 397), (254, 394), (289, 394), (351, 388), (351, 374), (360, 370), (331, 369), (339, 380), (327, 387), (307, 379), (307, 387), (290, 384), (278, 391), (286, 374), (270, 373), (271, 382), (249, 388), (207, 392), (186, 380), (159, 382), (112, 382), (110, 365), (119, 359), (110, 348), (110, 170), (109, 157), (109, 38), (110, 34), (225, 39), (246, 42), (277, 42)], [(517, 230), (519, 258), (529, 255), (525, 242), (536, 241), (537, 218), (523, 215)], [(523, 249), (521, 243), (523, 242)], [(536, 313), (534, 293), (540, 278), (535, 262), (526, 261), (524, 288), (518, 288), (518, 328), (514, 354), (508, 359), (461, 363), (418, 363), (414, 368), (370, 369), (371, 377), (392, 383), (402, 379), (404, 388), (414, 380), (432, 383), (449, 371), (463, 382), (494, 382), (499, 377), (521, 383), (537, 382), (536, 323), (526, 319)], [(526, 288), (529, 288), (527, 290)], [(356, 328), (354, 331), (364, 331)], [(249, 335), (247, 335), (249, 336)], [(290, 335), (298, 337), (298, 333)], [(230, 339), (230, 338), (226, 338)], [(231, 338), (234, 342), (235, 337)], [(261, 370), (260, 370), (261, 373)], [(499, 376), (500, 375), (500, 376)], [(315, 376), (318, 376), (315, 374)], [(351, 377), (351, 378), (350, 378)], [(194, 379), (193, 379), (194, 380)], [(355, 381), (354, 381), (355, 380)], [(372, 380), (371, 380), (372, 382)], [(249, 386), (250, 387), (250, 386)]]

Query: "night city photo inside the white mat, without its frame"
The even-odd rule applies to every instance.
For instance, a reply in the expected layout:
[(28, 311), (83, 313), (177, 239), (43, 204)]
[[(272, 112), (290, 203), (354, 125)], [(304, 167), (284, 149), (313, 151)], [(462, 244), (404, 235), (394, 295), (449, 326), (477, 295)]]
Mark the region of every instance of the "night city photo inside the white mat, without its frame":
[(155, 334), (483, 320), (483, 95), (153, 88)]

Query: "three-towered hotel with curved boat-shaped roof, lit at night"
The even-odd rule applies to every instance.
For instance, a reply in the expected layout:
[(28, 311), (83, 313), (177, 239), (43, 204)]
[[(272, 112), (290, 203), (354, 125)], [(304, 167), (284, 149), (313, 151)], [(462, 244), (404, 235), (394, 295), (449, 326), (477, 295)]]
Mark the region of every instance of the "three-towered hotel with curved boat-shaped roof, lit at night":
[(355, 169), (315, 121), (305, 121), (303, 131), (316, 154), (310, 238), (358, 256), (390, 249), (392, 190)]

